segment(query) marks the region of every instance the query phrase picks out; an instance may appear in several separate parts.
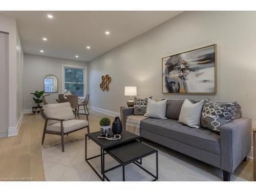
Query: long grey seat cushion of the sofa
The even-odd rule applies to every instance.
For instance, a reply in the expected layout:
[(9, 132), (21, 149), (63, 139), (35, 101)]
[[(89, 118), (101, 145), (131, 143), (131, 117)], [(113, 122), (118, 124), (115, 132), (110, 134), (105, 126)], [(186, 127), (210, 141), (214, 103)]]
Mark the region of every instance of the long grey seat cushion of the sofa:
[(143, 137), (143, 131), (220, 155), (220, 135), (202, 127), (200, 129), (191, 129), (189, 126), (178, 123), (174, 119), (147, 118), (140, 122), (141, 137)]

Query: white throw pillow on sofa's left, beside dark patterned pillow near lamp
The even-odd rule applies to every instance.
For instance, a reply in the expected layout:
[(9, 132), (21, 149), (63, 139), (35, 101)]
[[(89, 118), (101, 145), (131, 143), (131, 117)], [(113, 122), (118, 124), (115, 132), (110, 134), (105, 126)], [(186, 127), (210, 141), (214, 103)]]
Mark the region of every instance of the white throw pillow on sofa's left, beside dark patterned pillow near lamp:
[(155, 101), (151, 98), (147, 98), (147, 106), (146, 106), (146, 113), (145, 117), (152, 117), (152, 118), (158, 118), (158, 119), (167, 119), (165, 117), (165, 111), (166, 111), (166, 101)]

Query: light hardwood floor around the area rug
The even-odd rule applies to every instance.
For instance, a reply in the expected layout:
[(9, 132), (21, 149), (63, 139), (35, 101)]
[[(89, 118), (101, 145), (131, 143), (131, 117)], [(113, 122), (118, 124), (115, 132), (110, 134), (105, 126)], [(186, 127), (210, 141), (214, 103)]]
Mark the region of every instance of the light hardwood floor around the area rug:
[[(99, 131), (102, 117), (114, 117), (90, 111), (91, 132)], [(85, 117), (82, 117), (85, 119)], [(44, 119), (40, 115), (25, 114), (17, 136), (0, 138), (0, 178), (32, 177), (34, 181), (44, 181), (44, 168), (41, 160), (41, 136)], [(65, 136), (65, 141), (83, 138), (86, 129)], [(46, 135), (45, 144), (60, 143), (60, 136)], [(235, 175), (253, 181), (253, 161), (247, 159), (234, 172)]]

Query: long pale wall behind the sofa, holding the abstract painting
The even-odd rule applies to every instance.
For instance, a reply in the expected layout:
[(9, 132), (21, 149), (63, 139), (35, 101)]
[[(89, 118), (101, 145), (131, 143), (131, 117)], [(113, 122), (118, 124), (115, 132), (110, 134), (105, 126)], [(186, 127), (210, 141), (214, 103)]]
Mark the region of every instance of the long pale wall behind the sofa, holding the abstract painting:
[[(137, 86), (139, 97), (214, 98), (238, 101), (243, 117), (256, 126), (256, 12), (187, 11), (90, 61), (90, 105), (115, 112), (126, 105), (124, 86)], [(161, 58), (217, 44), (217, 94), (162, 94)], [(110, 90), (99, 88), (110, 74)]]

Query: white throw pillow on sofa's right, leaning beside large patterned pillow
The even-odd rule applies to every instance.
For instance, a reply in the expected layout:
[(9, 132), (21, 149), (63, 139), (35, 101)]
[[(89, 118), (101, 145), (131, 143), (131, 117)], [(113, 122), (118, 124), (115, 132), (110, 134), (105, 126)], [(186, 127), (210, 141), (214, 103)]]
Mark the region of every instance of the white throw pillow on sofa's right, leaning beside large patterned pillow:
[(181, 107), (178, 122), (198, 129), (200, 127), (203, 104), (204, 100), (193, 104), (188, 99), (185, 99)]

